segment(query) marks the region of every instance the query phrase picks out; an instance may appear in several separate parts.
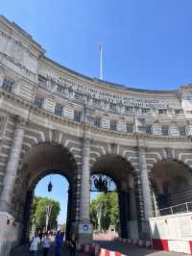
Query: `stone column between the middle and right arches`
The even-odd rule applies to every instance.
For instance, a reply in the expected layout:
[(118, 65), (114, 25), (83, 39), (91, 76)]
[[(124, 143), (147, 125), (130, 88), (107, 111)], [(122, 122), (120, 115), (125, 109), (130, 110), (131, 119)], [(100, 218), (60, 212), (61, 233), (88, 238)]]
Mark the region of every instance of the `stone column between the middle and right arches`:
[(144, 203), (144, 218), (148, 221), (149, 218), (153, 217), (152, 198), (150, 192), (150, 182), (145, 158), (145, 148), (143, 145), (138, 147), (138, 162), (141, 178), (141, 188)]

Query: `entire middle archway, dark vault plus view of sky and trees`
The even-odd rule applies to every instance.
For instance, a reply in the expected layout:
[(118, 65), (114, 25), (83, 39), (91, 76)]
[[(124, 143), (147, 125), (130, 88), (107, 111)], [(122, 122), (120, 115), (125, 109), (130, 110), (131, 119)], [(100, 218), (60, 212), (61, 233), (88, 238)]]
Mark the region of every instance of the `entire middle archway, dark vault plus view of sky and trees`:
[[(109, 230), (111, 224), (111, 229), (114, 230), (116, 236), (137, 239), (138, 222), (135, 201), (135, 177), (131, 163), (119, 155), (105, 155), (94, 163), (91, 174), (91, 189), (93, 191), (91, 192), (91, 199), (93, 199), (91, 206), (92, 204), (94, 205), (94, 200), (97, 198), (98, 201), (103, 199), (104, 205), (106, 203), (105, 207), (100, 206), (93, 213), (95, 218), (97, 218), (97, 225), (93, 223), (93, 227), (95, 225), (97, 231), (98, 225), (101, 225), (98, 218), (101, 221), (103, 214), (103, 220), (107, 222), (103, 223), (103, 226), (105, 227), (106, 225), (108, 233), (111, 231)], [(95, 187), (97, 190), (95, 190)], [(94, 195), (95, 191), (98, 192), (97, 197)], [(111, 201), (113, 201), (113, 205), (111, 205)], [(108, 211), (108, 207), (111, 207), (112, 213)], [(101, 210), (99, 211), (98, 209), (100, 208)], [(101, 240), (102, 236), (97, 239)], [(107, 236), (106, 239), (111, 239), (111, 236)]]

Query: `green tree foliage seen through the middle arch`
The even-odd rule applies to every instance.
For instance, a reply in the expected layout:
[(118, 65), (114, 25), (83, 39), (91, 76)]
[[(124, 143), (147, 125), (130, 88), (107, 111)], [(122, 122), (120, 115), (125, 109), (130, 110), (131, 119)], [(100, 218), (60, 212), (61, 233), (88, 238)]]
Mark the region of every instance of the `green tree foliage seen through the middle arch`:
[(119, 224), (119, 205), (117, 192), (100, 193), (90, 204), (90, 219), (93, 229), (98, 229), (99, 218), (102, 230), (106, 231), (109, 225), (116, 228)]

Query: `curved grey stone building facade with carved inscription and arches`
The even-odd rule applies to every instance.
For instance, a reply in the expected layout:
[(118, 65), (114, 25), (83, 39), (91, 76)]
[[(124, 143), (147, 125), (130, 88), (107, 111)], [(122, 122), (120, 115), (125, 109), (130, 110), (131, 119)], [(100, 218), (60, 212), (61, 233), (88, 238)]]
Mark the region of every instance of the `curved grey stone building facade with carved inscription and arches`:
[[(192, 86), (136, 90), (72, 71), (0, 16), (0, 240), (26, 236), (36, 183), (69, 182), (67, 228), (92, 240), (93, 173), (118, 187), (123, 238), (158, 209), (192, 201)], [(60, 195), (62, 196), (62, 195)], [(10, 233), (9, 233), (10, 232)]]

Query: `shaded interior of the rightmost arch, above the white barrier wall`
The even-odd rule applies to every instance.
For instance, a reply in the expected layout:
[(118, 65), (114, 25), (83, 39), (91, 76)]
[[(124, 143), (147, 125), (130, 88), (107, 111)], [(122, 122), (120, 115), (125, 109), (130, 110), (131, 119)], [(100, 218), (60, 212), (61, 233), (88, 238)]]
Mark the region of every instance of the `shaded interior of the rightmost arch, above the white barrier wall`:
[(151, 181), (158, 209), (192, 201), (192, 170), (181, 162), (157, 163), (152, 168)]

